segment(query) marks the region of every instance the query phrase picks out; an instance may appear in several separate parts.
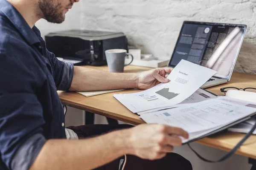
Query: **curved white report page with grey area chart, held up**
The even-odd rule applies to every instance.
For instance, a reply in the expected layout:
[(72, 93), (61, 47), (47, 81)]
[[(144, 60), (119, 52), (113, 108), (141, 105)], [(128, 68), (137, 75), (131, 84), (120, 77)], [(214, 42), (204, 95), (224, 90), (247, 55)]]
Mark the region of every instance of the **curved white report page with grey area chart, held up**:
[(167, 77), (170, 82), (138, 93), (115, 94), (114, 97), (133, 113), (169, 107), (183, 102), (214, 74), (214, 70), (181, 60)]

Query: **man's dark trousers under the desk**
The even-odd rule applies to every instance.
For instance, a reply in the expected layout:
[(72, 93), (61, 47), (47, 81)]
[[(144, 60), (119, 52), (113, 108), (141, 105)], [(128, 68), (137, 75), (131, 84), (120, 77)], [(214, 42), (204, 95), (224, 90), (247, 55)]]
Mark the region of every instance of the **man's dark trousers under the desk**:
[[(131, 125), (82, 125), (67, 127), (72, 129), (79, 137), (84, 139), (101, 134), (133, 127)], [(191, 163), (177, 153), (168, 153), (166, 157), (159, 160), (145, 160), (137, 156), (127, 155), (125, 170), (192, 170)], [(120, 159), (116, 159), (95, 170), (119, 170)]]

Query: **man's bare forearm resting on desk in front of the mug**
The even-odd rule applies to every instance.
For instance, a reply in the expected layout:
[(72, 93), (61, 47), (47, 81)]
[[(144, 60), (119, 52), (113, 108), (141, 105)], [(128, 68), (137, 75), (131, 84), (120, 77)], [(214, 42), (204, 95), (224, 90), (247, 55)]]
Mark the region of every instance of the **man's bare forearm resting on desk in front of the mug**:
[(99, 69), (74, 67), (69, 91), (99, 91), (137, 88), (138, 74), (110, 73)]

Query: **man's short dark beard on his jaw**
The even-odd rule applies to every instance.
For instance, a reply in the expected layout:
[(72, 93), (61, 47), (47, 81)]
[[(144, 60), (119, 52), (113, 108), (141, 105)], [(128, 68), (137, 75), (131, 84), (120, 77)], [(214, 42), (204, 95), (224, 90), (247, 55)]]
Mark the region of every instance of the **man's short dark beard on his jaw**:
[(65, 15), (63, 14), (63, 7), (61, 3), (55, 3), (57, 0), (39, 0), (38, 5), (42, 11), (44, 19), (50, 23), (63, 23)]

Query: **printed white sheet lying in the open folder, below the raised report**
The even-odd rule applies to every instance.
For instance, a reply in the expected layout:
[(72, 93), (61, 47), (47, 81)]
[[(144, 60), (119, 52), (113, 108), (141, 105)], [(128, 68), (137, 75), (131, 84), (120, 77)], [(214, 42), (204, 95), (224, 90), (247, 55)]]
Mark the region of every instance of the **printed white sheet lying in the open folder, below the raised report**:
[(256, 103), (218, 96), (178, 108), (141, 114), (140, 117), (147, 123), (183, 128), (189, 133), (189, 139), (183, 139), (184, 143), (233, 122), (249, 119), (253, 113), (256, 113)]

